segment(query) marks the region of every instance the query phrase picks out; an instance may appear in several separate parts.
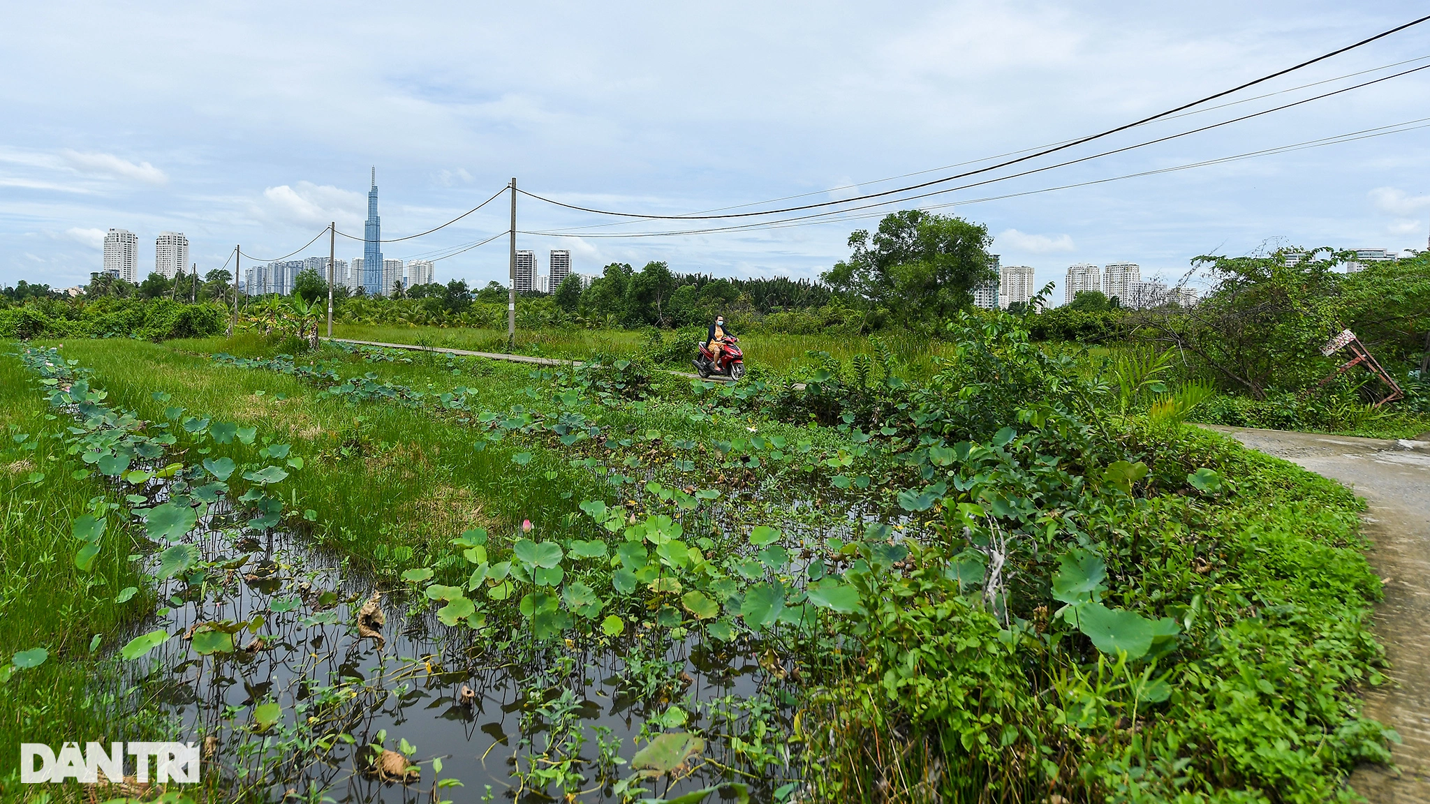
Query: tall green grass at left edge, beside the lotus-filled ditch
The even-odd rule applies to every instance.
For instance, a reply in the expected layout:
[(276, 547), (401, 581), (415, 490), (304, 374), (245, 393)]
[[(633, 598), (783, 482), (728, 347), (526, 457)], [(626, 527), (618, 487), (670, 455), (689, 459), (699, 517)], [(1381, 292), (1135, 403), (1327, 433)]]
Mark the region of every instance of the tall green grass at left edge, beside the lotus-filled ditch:
[[(96, 478), (76, 478), (86, 466), (69, 455), (60, 433), (66, 418), (50, 411), (34, 378), (13, 356), (14, 343), (0, 343), (0, 657), (41, 647), (44, 664), (0, 684), (0, 768), (19, 765), (19, 744), (66, 740), (156, 740), (162, 724), (136, 712), (104, 677), (107, 662), (90, 642), (113, 647), (147, 615), (152, 595), (126, 604), (114, 597), (126, 587), (146, 589), (129, 554), (134, 534), (109, 518), (103, 546), (90, 572), (74, 567), (76, 539), (70, 522), (110, 489)], [(43, 475), (43, 478), (41, 478)]]

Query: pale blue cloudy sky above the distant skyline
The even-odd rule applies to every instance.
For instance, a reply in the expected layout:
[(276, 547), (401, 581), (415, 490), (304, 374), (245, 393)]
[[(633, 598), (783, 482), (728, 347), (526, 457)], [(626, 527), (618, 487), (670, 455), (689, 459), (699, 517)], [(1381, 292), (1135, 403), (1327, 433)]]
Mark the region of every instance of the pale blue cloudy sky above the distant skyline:
[[(326, 255), (326, 236), (302, 246), (330, 220), (362, 237), (372, 167), (385, 237), (456, 217), (512, 177), (646, 215), (841, 200), (1121, 126), (1423, 13), (1317, 0), (14, 4), (0, 27), (0, 283), (86, 282), (109, 227), (139, 235), (140, 273), (163, 230), (189, 237), (200, 272), (236, 245), (245, 268)], [(1018, 167), (1426, 64), (1430, 23)], [(1034, 266), (1038, 283), (1061, 285), (1080, 262), (1175, 280), (1207, 253), (1423, 249), (1427, 90), (1430, 70), (1030, 176), (1005, 167), (924, 192), (998, 179), (978, 187), (895, 195), (858, 217), (632, 236), (768, 219), (662, 223), (518, 196), (516, 227), (532, 233), (516, 246), (535, 249), (542, 272), (565, 247), (582, 273), (665, 260), (815, 279), (848, 256), (854, 229), (924, 206), (985, 225), (990, 250)], [(1167, 170), (1356, 132), (1379, 136)], [(907, 177), (885, 180), (895, 176)], [(1067, 185), (1083, 186), (1051, 189)], [(502, 196), (383, 252), (442, 256), (505, 232), (509, 213)], [(360, 256), (362, 243), (339, 236), (336, 252)], [(506, 237), (436, 263), (439, 282), (506, 275)]]

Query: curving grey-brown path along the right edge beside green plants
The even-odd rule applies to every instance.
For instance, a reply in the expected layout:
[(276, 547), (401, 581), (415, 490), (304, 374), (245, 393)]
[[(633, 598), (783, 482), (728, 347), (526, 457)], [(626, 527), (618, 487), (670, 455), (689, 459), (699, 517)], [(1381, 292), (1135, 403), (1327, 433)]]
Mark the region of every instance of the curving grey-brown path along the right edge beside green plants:
[(1430, 442), (1213, 428), (1351, 486), (1369, 504), (1370, 564), (1386, 582), (1376, 634), (1390, 677), (1366, 697), (1366, 714), (1390, 725), (1399, 775), (1363, 767), (1351, 787), (1374, 804), (1430, 804)]

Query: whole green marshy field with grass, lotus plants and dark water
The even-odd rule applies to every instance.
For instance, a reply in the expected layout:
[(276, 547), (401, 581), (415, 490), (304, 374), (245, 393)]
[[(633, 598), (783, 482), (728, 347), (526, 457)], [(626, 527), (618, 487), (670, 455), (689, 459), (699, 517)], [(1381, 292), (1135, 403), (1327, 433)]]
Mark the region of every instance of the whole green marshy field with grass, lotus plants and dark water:
[(372, 794), (372, 745), (453, 800), (1323, 801), (1387, 760), (1348, 492), (1148, 412), (1095, 358), (955, 343), (937, 366), (745, 340), (825, 368), (804, 391), (255, 335), (11, 343), (4, 750), (212, 737), (203, 795), (245, 801)]

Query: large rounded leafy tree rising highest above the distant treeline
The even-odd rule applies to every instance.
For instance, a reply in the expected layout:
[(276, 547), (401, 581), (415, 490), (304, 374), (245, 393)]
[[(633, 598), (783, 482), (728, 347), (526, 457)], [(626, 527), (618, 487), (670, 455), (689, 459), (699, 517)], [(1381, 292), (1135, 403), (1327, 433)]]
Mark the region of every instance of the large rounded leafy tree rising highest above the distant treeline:
[(871, 236), (849, 235), (849, 259), (821, 279), (882, 318), (928, 329), (972, 305), (972, 288), (995, 279), (988, 227), (921, 210), (895, 212)]

